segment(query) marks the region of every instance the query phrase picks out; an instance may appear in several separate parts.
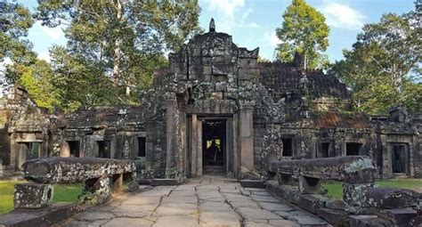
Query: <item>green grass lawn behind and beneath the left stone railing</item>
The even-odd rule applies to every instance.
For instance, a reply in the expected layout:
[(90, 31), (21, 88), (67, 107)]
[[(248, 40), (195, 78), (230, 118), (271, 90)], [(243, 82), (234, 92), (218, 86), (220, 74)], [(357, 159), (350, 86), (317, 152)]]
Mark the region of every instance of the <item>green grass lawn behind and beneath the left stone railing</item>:
[[(0, 181), (0, 215), (9, 213), (13, 209), (13, 187), (15, 181)], [(77, 202), (77, 197), (82, 192), (79, 184), (54, 185), (53, 203)]]

